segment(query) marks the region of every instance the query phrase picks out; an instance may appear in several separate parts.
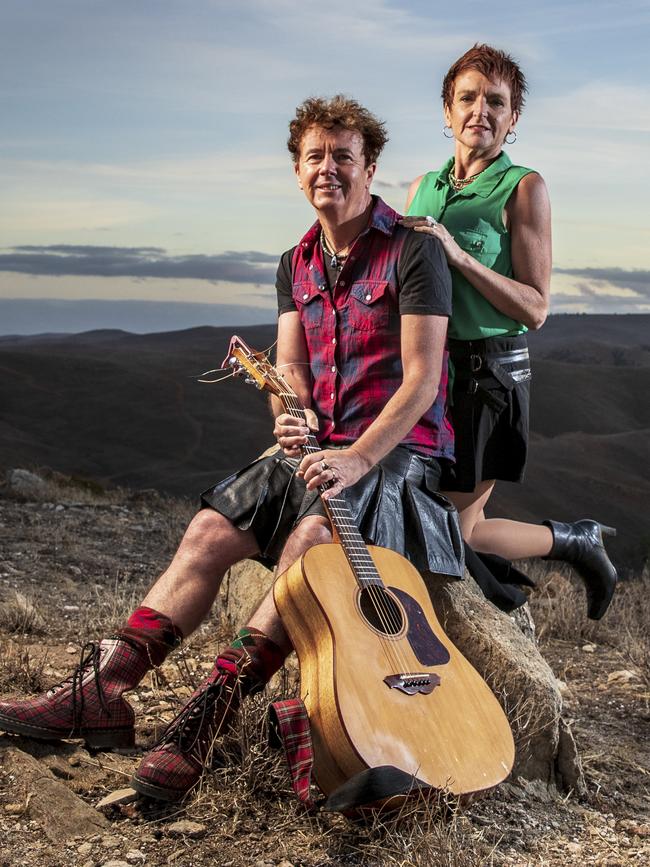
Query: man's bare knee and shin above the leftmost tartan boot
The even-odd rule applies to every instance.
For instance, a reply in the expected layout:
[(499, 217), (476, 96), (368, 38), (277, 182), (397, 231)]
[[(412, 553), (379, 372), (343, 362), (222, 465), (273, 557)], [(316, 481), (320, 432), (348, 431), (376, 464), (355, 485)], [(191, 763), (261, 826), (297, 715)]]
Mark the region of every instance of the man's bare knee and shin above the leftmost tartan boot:
[(213, 509), (201, 509), (142, 604), (166, 614), (187, 638), (210, 611), (226, 570), (258, 550), (250, 530), (239, 530)]

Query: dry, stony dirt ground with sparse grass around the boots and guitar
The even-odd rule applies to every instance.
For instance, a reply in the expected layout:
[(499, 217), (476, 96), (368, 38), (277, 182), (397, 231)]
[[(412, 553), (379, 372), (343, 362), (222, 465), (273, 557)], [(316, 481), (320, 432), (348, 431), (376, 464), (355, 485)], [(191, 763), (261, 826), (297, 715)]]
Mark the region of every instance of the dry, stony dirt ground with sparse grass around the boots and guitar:
[[(119, 626), (191, 511), (154, 492), (99, 496), (51, 484), (19, 499), (0, 491), (0, 695), (61, 680), (86, 641)], [(584, 618), (581, 590), (566, 576), (540, 583), (531, 605), (563, 684), (586, 792), (510, 780), (464, 810), (426, 803), (365, 823), (306, 814), (266, 745), (266, 704), (291, 688), (280, 678), (271, 695), (244, 706), (219, 767), (185, 803), (98, 810), (128, 786), (146, 746), (211, 668), (223, 637), (213, 617), (130, 694), (139, 745), (131, 754), (0, 734), (0, 867), (649, 864), (650, 582), (623, 585), (600, 624)]]

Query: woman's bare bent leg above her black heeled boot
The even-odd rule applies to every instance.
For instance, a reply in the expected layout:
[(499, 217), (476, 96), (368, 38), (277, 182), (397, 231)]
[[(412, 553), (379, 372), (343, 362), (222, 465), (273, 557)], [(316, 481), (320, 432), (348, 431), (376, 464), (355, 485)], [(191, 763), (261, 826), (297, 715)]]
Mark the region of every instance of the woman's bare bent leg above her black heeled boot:
[(485, 504), (494, 481), (480, 482), (471, 493), (446, 491), (458, 509), (463, 539), (483, 554), (498, 554), (508, 560), (546, 557), (553, 547), (553, 533), (543, 524), (524, 524), (506, 518), (486, 518)]

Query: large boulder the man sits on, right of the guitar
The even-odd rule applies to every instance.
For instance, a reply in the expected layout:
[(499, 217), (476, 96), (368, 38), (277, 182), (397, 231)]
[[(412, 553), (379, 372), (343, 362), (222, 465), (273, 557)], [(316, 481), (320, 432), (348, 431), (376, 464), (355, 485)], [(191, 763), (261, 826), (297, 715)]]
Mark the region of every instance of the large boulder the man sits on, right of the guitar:
[(513, 778), (583, 791), (575, 742), (568, 729), (561, 733), (557, 681), (515, 622), (523, 615), (499, 611), (469, 573), (463, 581), (434, 575), (427, 585), (443, 629), (504, 706), (516, 746)]

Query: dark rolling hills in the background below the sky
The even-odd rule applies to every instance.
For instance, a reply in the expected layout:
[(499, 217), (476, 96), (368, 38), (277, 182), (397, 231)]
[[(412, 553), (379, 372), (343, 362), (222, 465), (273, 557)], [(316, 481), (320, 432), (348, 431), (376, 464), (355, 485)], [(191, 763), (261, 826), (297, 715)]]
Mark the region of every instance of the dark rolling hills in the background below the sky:
[[(196, 495), (273, 441), (256, 389), (197, 382), (233, 331), (258, 349), (275, 340), (271, 325), (0, 338), (0, 470)], [(498, 485), (492, 512), (597, 517), (619, 528), (612, 550), (636, 570), (650, 548), (650, 315), (552, 316), (530, 344), (527, 480)]]

